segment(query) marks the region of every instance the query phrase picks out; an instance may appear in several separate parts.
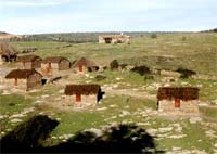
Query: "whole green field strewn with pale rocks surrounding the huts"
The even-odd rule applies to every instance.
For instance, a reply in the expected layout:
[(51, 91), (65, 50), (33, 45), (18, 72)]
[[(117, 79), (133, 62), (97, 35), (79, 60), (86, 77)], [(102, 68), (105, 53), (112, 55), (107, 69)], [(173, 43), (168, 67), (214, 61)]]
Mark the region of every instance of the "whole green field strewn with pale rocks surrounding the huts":
[[(186, 40), (183, 40), (183, 37), (186, 37)], [(41, 57), (61, 55), (73, 62), (80, 56), (86, 56), (102, 66), (108, 65), (112, 60), (117, 59), (120, 63), (145, 64), (150, 68), (175, 70), (183, 67), (192, 69), (197, 75), (205, 75), (207, 78), (177, 78), (169, 85), (200, 87), (200, 102), (207, 105), (217, 100), (217, 80), (208, 78), (209, 76), (217, 76), (216, 34), (164, 34), (157, 35), (155, 39), (146, 35), (143, 38), (132, 39), (130, 44), (71, 43), (71, 47), (67, 48), (65, 46), (69, 43), (66, 42), (12, 43), (17, 49), (37, 47), (38, 51), (34, 54)], [(15, 67), (15, 64), (7, 64), (5, 66)], [(69, 70), (69, 73), (72, 75), (73, 70)], [(94, 77), (99, 74), (105, 76), (106, 79), (95, 80)], [(197, 150), (215, 153), (216, 107), (201, 106), (202, 120), (197, 123), (191, 123), (189, 118), (174, 119), (156, 115), (155, 95), (157, 87), (164, 86), (164, 79), (168, 76), (153, 75), (153, 79), (145, 80), (143, 76), (129, 70), (90, 73), (81, 78), (71, 75), (64, 78), (73, 82), (101, 85), (105, 91), (101, 103), (80, 111), (58, 108), (55, 103), (61, 103), (64, 100), (64, 86), (59, 84), (47, 85), (42, 89), (27, 94), (15, 93), (10, 89), (8, 89), (9, 94), (3, 94), (3, 90), (1, 90), (1, 136), (21, 123), (12, 123), (11, 120), (14, 118), (25, 120), (36, 114), (47, 114), (58, 119), (60, 125), (51, 133), (51, 137), (44, 143), (46, 145), (55, 144), (63, 140), (64, 134), (74, 136), (79, 130), (102, 128), (113, 123), (135, 123), (146, 129), (151, 134), (156, 136), (155, 142), (161, 150)], [(112, 90), (106, 88), (112, 88)], [(31, 107), (34, 110), (29, 110)], [(17, 114), (23, 116), (17, 116)], [(212, 131), (213, 136), (208, 136), (207, 131)]]

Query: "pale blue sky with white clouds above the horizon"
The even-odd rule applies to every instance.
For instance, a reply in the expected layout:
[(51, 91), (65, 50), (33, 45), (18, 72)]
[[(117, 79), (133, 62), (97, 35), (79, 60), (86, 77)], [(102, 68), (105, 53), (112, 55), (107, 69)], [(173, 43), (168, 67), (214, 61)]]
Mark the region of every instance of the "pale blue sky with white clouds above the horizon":
[(216, 15), (217, 0), (0, 0), (0, 31), (200, 31)]

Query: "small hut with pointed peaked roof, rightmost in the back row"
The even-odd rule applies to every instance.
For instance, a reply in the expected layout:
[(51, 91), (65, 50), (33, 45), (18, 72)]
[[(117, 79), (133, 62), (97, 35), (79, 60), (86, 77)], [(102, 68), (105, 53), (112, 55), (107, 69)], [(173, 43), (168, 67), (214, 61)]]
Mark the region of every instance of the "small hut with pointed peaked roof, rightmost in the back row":
[(76, 72), (78, 74), (85, 74), (87, 72), (94, 72), (99, 69), (99, 66), (94, 62), (89, 61), (86, 57), (81, 57), (76, 61), (74, 67), (76, 67)]

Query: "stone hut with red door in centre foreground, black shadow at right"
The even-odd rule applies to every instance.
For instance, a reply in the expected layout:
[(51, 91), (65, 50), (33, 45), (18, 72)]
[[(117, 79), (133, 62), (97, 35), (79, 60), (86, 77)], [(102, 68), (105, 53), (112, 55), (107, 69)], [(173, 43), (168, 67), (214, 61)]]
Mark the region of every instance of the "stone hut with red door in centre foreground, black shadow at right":
[(102, 98), (101, 93), (99, 85), (66, 85), (65, 103), (67, 105), (94, 105)]

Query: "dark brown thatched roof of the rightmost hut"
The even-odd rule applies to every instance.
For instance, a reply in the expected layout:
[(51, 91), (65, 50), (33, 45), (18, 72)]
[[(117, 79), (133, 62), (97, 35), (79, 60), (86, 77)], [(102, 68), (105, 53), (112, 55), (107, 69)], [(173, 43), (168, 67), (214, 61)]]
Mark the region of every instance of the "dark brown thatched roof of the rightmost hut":
[(157, 92), (157, 100), (196, 100), (199, 99), (199, 91), (200, 89), (196, 87), (161, 87)]

